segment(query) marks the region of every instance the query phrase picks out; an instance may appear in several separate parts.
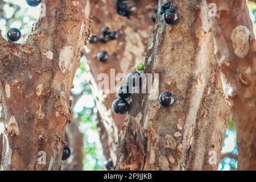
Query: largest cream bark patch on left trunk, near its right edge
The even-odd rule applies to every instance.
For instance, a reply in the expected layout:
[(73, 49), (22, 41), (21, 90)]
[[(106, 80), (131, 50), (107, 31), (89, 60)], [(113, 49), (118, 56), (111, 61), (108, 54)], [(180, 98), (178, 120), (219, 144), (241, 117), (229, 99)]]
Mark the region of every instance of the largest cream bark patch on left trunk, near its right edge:
[(71, 68), (73, 55), (73, 46), (66, 46), (60, 50), (59, 67), (63, 74), (67, 71), (67, 69)]

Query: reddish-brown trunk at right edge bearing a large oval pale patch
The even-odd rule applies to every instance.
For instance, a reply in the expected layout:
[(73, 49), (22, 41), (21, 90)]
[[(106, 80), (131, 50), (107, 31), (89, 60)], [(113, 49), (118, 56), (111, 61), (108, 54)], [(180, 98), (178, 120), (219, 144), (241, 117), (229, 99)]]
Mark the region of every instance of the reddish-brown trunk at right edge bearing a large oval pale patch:
[(238, 169), (256, 170), (256, 42), (246, 1), (216, 3), (210, 18), (222, 87), (237, 130)]

